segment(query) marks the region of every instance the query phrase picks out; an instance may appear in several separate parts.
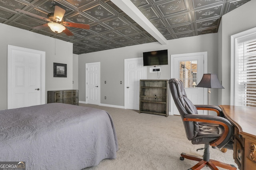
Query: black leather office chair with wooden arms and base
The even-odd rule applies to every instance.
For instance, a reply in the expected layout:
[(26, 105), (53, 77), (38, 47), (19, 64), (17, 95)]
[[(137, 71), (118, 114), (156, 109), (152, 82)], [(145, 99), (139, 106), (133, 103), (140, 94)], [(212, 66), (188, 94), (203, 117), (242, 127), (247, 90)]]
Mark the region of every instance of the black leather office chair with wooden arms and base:
[[(180, 112), (180, 117), (183, 121), (188, 140), (190, 140), (193, 145), (205, 144), (203, 158), (182, 153), (180, 160), (187, 158), (198, 161), (198, 164), (188, 170), (200, 170), (204, 166), (208, 166), (212, 170), (218, 170), (216, 166), (228, 170), (236, 170), (234, 165), (210, 159), (209, 146), (214, 148), (225, 147), (233, 149), (232, 124), (222, 117), (223, 113), (220, 107), (211, 105), (193, 105), (186, 96), (181, 80), (172, 78), (169, 80), (169, 86), (172, 98)], [(197, 112), (198, 109), (216, 111), (218, 116), (199, 115)]]

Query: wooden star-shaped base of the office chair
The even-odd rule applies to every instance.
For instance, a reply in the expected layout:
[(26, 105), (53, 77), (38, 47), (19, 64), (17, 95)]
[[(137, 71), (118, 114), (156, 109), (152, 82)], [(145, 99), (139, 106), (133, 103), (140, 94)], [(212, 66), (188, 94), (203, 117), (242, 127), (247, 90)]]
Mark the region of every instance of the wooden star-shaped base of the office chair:
[(180, 156), (181, 156), (180, 160), (184, 160), (184, 158), (187, 158), (189, 160), (198, 161), (198, 163), (195, 166), (193, 166), (192, 168), (190, 168), (188, 170), (200, 170), (200, 169), (204, 168), (204, 166), (208, 166), (211, 170), (218, 170), (218, 168), (216, 166), (225, 168), (227, 170), (236, 170), (236, 166), (231, 165), (231, 164), (226, 164), (223, 162), (219, 162), (216, 160), (209, 159), (209, 161), (206, 161), (203, 158), (200, 158), (200, 157), (194, 156), (194, 155), (190, 155), (190, 154), (186, 154), (186, 153), (182, 153), (182, 154), (180, 154)]

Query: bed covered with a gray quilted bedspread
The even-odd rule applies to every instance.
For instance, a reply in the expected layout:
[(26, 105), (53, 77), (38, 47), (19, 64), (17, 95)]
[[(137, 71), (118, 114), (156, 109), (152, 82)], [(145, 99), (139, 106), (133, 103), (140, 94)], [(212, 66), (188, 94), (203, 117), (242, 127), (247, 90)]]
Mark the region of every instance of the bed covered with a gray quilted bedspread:
[(0, 161), (27, 170), (81, 170), (116, 158), (111, 116), (103, 110), (51, 103), (0, 111)]

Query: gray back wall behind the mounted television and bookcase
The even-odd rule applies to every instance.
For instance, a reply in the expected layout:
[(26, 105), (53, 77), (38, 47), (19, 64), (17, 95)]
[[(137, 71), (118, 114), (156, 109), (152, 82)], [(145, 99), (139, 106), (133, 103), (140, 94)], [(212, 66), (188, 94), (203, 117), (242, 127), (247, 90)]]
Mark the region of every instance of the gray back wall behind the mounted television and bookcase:
[[(79, 100), (85, 101), (85, 64), (100, 62), (100, 103), (114, 106), (124, 106), (124, 59), (142, 57), (146, 51), (168, 49), (168, 65), (161, 66), (160, 79), (170, 79), (170, 55), (181, 53), (208, 52), (208, 72), (218, 73), (218, 34), (205, 34), (195, 37), (186, 37), (169, 40), (167, 45), (160, 43), (147, 43), (81, 54), (78, 56), (78, 87)], [(149, 73), (147, 66), (147, 79), (158, 79), (157, 73)], [(107, 84), (104, 84), (104, 81)], [(107, 96), (107, 99), (104, 99)], [(212, 90), (211, 102), (217, 103), (217, 91)]]

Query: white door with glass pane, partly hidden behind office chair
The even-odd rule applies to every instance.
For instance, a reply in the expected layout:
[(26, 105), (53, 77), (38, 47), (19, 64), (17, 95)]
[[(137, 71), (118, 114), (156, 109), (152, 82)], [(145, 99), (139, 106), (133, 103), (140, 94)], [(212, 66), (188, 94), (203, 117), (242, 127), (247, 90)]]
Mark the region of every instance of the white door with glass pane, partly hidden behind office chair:
[[(193, 104), (206, 104), (205, 88), (196, 88), (204, 73), (207, 72), (207, 52), (171, 55), (171, 78), (178, 78), (184, 83), (187, 97)], [(171, 114), (179, 115), (171, 96)], [(199, 114), (206, 114), (202, 110)]]

